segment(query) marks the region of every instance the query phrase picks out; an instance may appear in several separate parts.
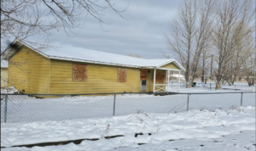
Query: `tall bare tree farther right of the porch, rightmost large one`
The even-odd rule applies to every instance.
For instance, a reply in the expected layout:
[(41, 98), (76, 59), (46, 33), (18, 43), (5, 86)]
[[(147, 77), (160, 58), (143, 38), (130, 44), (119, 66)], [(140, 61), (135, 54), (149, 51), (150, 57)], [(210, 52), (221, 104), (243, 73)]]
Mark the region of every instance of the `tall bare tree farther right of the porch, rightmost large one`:
[(217, 75), (216, 90), (229, 81), (232, 75), (230, 74), (230, 69), (233, 68), (231, 60), (234, 59), (237, 47), (241, 47), (237, 43), (237, 37), (241, 38), (253, 31), (254, 25), (250, 24), (254, 12), (251, 0), (218, 1), (215, 29), (212, 34), (213, 46), (218, 56), (218, 70), (215, 73)]

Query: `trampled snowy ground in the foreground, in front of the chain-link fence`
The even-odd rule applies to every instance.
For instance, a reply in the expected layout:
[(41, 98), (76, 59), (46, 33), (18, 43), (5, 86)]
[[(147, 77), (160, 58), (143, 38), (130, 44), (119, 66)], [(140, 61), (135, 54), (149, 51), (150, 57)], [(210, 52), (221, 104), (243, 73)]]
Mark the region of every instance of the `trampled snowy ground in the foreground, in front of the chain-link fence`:
[[(255, 111), (255, 107), (231, 107), (190, 109), (175, 114), (138, 112), (84, 120), (1, 123), (1, 147), (8, 147), (1, 150), (255, 150)], [(135, 137), (136, 133), (143, 135)], [(122, 137), (104, 138), (118, 135)], [(99, 140), (84, 140), (77, 145), (11, 148), (85, 138)], [(145, 144), (138, 145), (140, 143)]]

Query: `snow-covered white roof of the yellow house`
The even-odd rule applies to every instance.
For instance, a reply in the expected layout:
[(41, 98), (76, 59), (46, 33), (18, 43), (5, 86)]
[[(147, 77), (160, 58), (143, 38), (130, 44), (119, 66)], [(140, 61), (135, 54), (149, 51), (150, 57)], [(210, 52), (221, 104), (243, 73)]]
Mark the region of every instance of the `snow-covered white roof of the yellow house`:
[[(24, 42), (15, 41), (13, 43), (18, 43), (16, 45), (25, 45), (28, 48), (31, 48), (33, 51), (44, 55), (48, 59), (61, 59), (61, 60), (70, 60), (77, 62), (86, 62), (93, 64), (109, 64), (109, 65), (118, 65), (118, 66), (127, 66), (135, 68), (157, 68), (165, 64), (174, 63), (180, 69), (183, 69), (183, 66), (177, 62), (175, 59), (139, 59), (130, 56), (115, 54), (115, 53), (105, 53), (90, 49), (84, 48), (50, 48), (44, 52), (32, 48), (31, 46), (25, 44)], [(21, 43), (21, 45), (20, 45)], [(9, 59), (9, 57), (15, 53), (15, 50), (12, 48), (7, 48), (3, 53), (4, 59)]]

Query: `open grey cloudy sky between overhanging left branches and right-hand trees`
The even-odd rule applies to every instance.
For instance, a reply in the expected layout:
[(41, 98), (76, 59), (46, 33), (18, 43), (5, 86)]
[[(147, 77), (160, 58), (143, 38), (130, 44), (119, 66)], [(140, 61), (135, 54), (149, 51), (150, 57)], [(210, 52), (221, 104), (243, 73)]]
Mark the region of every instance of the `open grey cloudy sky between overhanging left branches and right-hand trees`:
[[(123, 10), (128, 1), (116, 1), (115, 8)], [(76, 36), (69, 37), (64, 31), (55, 33), (55, 42), (65, 48), (86, 48), (123, 55), (139, 54), (144, 59), (163, 59), (160, 51), (172, 54), (166, 49), (164, 33), (168, 31), (178, 8), (177, 0), (130, 0), (129, 7), (119, 17), (111, 8), (105, 10), (103, 24), (92, 17), (86, 20), (83, 27), (73, 30)], [(170, 56), (176, 58), (175, 56)]]

